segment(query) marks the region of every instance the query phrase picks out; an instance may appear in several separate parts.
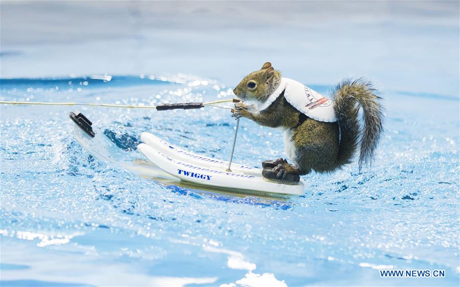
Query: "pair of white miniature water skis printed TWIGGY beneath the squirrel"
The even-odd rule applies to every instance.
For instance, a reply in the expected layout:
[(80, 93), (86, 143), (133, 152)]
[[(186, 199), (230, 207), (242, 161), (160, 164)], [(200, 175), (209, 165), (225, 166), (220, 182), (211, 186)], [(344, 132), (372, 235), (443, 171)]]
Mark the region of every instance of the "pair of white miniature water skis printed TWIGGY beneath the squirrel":
[[(75, 122), (74, 119), (73, 121)], [(226, 161), (175, 147), (149, 133), (141, 135), (143, 143), (137, 146), (148, 160), (126, 159), (126, 154), (111, 142), (101, 129), (89, 123), (94, 137), (93, 134), (88, 134), (89, 127), (82, 129), (81, 125), (75, 122), (75, 140), (98, 160), (133, 171), (145, 179), (165, 185), (232, 196), (253, 194), (272, 198), (305, 193), (305, 182), (302, 179), (296, 185), (273, 183), (262, 177), (262, 169), (238, 163), (232, 164), (232, 171), (226, 171)]]

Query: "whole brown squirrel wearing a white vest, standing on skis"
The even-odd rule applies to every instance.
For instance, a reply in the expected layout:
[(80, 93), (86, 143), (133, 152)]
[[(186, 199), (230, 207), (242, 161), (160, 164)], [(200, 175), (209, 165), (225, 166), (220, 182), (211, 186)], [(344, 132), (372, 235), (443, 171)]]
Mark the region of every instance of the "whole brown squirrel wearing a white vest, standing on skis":
[[(293, 164), (282, 158), (264, 161), (264, 178), (296, 184), (299, 175), (312, 170), (335, 171), (352, 162), (358, 146), (359, 169), (371, 164), (383, 132), (384, 114), (373, 84), (362, 78), (342, 80), (332, 92), (333, 101), (302, 84), (296, 88), (297, 92), (287, 90), (288, 85), (298, 87), (299, 84), (282, 78), (281, 72), (266, 62), (259, 71), (244, 77), (233, 91), (243, 101), (235, 104), (232, 117), (285, 129), (285, 150)], [(297, 96), (293, 96), (296, 93)], [(304, 106), (304, 103), (307, 104)], [(312, 114), (314, 108), (318, 110), (316, 114)]]

